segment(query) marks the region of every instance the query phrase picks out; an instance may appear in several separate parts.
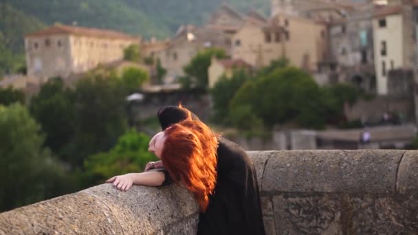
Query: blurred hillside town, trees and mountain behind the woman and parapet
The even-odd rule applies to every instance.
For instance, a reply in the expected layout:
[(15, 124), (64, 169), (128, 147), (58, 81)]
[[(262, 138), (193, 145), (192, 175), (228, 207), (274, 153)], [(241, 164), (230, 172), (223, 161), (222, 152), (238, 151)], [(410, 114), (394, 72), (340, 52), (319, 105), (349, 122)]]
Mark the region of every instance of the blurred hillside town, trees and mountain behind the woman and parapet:
[(417, 1), (1, 0), (0, 212), (155, 156), (181, 102), (246, 150), (418, 148)]

